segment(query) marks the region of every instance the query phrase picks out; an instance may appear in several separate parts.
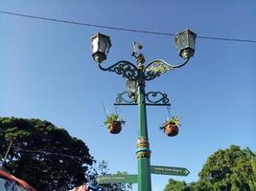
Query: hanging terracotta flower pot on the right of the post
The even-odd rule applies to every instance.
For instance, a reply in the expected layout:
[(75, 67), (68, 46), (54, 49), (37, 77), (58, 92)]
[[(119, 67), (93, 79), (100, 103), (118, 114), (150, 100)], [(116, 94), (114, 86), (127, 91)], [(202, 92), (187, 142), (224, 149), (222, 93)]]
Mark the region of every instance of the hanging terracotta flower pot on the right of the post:
[(179, 126), (181, 125), (178, 117), (172, 117), (171, 119), (167, 117), (160, 130), (163, 130), (168, 137), (175, 137), (178, 134)]

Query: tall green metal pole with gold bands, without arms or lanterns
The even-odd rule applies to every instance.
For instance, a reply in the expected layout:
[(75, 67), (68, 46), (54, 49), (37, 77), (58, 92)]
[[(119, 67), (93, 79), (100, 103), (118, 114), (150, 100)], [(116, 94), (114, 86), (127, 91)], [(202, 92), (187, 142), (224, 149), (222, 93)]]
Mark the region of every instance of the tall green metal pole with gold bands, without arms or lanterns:
[(144, 57), (141, 54), (138, 59), (138, 112), (139, 129), (137, 141), (138, 159), (138, 191), (151, 191), (151, 150), (148, 138), (147, 110), (145, 102), (145, 79), (143, 77)]

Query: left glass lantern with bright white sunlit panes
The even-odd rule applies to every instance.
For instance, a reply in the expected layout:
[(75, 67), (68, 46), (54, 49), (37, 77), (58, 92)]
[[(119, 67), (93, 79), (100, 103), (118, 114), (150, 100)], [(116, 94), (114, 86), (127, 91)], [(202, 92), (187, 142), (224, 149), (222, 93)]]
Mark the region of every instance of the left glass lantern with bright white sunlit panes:
[(93, 59), (99, 63), (103, 62), (111, 47), (109, 36), (98, 32), (91, 37), (91, 41)]

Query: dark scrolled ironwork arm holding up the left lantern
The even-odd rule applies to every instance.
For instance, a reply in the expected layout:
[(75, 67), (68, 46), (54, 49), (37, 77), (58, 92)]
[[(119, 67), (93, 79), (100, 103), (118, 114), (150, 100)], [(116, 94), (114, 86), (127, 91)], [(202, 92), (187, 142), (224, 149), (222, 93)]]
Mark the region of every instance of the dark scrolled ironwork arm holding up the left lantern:
[(98, 63), (98, 66), (103, 71), (120, 74), (123, 77), (126, 77), (131, 80), (137, 80), (139, 78), (139, 71), (138, 71), (137, 67), (134, 64), (132, 64), (126, 60), (121, 60), (121, 61), (117, 62), (116, 64), (109, 66), (107, 68), (104, 68), (101, 65), (101, 63)]

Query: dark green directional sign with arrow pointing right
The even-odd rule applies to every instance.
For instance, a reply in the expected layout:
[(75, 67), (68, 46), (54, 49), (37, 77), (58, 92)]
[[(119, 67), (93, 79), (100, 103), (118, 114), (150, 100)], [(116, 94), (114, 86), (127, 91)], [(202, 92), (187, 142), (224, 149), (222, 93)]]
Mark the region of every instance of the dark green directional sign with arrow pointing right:
[(189, 170), (186, 168), (151, 165), (151, 174), (188, 176), (189, 173)]

